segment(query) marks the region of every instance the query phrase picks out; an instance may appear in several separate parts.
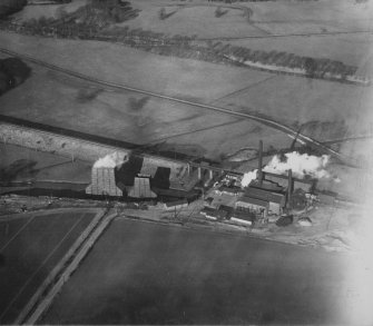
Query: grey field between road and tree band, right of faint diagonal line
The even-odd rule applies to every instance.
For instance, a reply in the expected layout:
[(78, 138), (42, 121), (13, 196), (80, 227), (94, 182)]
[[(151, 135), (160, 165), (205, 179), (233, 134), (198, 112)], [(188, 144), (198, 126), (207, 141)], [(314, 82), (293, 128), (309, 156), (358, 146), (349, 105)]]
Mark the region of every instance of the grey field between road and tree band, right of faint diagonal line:
[[(271, 95), (271, 96), (268, 96)], [(219, 100), (233, 110), (258, 112), (321, 141), (371, 135), (373, 87), (276, 76)]]

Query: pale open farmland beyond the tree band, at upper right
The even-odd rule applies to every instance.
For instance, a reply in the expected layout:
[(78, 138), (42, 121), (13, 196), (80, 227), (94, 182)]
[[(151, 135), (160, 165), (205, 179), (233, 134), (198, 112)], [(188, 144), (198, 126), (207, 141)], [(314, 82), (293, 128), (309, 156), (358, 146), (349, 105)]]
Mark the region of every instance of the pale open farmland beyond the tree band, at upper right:
[[(193, 1), (165, 6), (137, 1), (138, 18), (122, 23), (165, 34), (224, 40), (253, 50), (285, 51), (298, 56), (340, 60), (372, 72), (372, 3), (347, 0), (223, 2)], [(159, 20), (164, 6), (169, 18)], [(215, 17), (217, 7), (227, 12)], [(244, 9), (249, 8), (249, 22)], [(279, 38), (274, 37), (279, 36)], [(369, 63), (369, 65), (366, 65)], [(369, 66), (369, 67), (366, 67)]]

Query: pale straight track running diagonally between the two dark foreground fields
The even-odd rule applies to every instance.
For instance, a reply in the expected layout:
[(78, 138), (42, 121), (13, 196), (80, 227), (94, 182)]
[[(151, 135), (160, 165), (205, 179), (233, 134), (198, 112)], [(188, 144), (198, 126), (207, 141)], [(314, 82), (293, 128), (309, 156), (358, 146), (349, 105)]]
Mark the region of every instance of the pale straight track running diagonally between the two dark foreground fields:
[[(46, 292), (48, 290), (48, 288), (50, 288), (50, 286), (53, 285), (53, 283), (55, 283), (55, 280), (56, 280), (56, 278), (58, 276), (60, 276), (60, 278), (59, 278), (59, 281), (56, 285), (58, 285), (58, 284), (60, 285), (59, 289), (68, 280), (68, 277), (65, 277), (65, 273), (66, 271), (63, 274), (61, 274), (63, 267), (66, 267), (66, 265), (71, 260), (71, 258), (73, 257), (73, 255), (76, 255), (77, 250), (87, 240), (87, 238), (92, 233), (92, 230), (95, 228), (97, 228), (97, 226), (99, 225), (99, 223), (102, 220), (102, 218), (105, 216), (106, 216), (106, 211), (105, 210), (100, 210), (99, 213), (96, 214), (96, 216), (92, 219), (92, 221), (81, 233), (81, 235), (79, 236), (79, 238), (73, 243), (73, 245), (70, 247), (70, 249), (65, 254), (65, 256), (61, 258), (61, 260), (55, 266), (55, 268), (49, 273), (48, 277), (39, 286), (38, 290), (29, 299), (29, 302), (27, 303), (27, 305), (23, 307), (23, 309), (21, 310), (21, 313), (18, 315), (17, 319), (13, 322), (14, 325), (21, 325), (21, 324), (23, 324), (24, 320), (26, 320), (26, 318), (31, 314), (32, 309), (36, 307), (36, 305), (38, 305), (37, 309), (38, 308), (40, 309), (40, 307), (42, 307), (41, 312), (43, 312), (46, 308), (48, 308), (48, 306), (51, 304), (51, 299), (53, 297), (50, 297), (50, 296), (46, 295)], [(72, 265), (72, 263), (71, 263), (71, 265)], [(78, 266), (76, 265), (73, 269), (76, 269), (77, 267)], [(60, 281), (61, 279), (62, 279), (62, 281)], [(55, 285), (55, 287), (56, 287), (56, 285)], [(33, 324), (33, 323), (27, 322), (26, 324)]]

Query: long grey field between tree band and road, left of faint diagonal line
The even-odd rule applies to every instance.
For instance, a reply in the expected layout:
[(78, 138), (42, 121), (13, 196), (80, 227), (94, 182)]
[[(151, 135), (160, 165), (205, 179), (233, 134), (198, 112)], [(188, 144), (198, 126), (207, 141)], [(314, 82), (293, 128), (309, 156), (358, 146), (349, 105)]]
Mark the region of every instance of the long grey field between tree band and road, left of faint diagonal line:
[(101, 41), (56, 40), (1, 31), (0, 43), (8, 50), (104, 81), (199, 101), (214, 100), (237, 87), (272, 76), (263, 71), (163, 57)]

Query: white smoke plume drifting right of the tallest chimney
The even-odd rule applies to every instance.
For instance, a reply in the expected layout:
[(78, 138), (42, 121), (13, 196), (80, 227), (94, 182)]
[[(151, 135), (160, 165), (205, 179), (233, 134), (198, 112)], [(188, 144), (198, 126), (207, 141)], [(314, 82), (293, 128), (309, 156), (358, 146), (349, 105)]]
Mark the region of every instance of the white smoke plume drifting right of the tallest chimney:
[(330, 178), (331, 175), (326, 170), (330, 156), (313, 156), (307, 154), (298, 154), (297, 151), (286, 152), (285, 159), (282, 160), (278, 155), (274, 156), (268, 165), (264, 167), (264, 171), (285, 175), (292, 169), (293, 176), (303, 179), (305, 176), (322, 179)]

